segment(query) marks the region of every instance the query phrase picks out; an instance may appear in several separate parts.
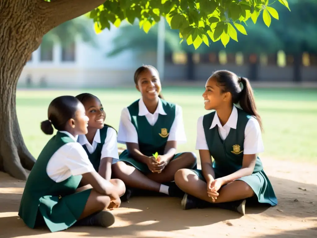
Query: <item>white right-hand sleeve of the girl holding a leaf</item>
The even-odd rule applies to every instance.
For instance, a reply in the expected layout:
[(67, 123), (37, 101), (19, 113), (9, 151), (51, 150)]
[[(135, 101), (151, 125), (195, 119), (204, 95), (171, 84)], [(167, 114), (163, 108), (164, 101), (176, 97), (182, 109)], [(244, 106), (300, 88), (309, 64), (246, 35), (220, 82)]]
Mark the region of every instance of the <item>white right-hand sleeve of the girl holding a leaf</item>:
[(183, 122), (183, 111), (179, 105), (176, 105), (175, 119), (171, 126), (167, 141), (177, 141), (178, 144), (184, 144), (187, 141)]

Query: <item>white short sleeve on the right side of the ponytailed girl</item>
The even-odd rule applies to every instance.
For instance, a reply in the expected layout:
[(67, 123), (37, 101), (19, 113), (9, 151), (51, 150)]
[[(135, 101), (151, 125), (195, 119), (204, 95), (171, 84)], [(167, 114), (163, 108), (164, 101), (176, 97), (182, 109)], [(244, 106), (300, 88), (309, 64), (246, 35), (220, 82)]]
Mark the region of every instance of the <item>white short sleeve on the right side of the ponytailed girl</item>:
[(262, 133), (259, 122), (251, 117), (244, 130), (243, 154), (253, 155), (264, 151)]

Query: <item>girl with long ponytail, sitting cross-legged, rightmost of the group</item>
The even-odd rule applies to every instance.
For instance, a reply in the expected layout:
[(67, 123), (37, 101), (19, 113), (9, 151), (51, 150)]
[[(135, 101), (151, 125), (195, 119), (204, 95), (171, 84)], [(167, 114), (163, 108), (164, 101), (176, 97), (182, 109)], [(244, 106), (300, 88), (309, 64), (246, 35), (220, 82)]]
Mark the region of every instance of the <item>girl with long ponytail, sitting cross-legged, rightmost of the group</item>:
[(197, 121), (202, 169), (175, 174), (176, 184), (186, 193), (183, 209), (211, 206), (244, 215), (246, 201), (277, 205), (258, 156), (264, 150), (262, 122), (249, 80), (228, 70), (216, 71), (203, 97), (205, 109), (215, 111)]

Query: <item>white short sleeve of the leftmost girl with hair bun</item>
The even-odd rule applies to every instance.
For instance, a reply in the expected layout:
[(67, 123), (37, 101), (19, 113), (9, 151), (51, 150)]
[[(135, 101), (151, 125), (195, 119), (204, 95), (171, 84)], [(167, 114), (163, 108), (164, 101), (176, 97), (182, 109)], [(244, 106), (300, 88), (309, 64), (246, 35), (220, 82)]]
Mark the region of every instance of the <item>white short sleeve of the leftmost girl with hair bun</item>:
[(85, 149), (78, 142), (68, 143), (70, 146), (65, 156), (65, 165), (72, 175), (82, 175), (94, 171)]

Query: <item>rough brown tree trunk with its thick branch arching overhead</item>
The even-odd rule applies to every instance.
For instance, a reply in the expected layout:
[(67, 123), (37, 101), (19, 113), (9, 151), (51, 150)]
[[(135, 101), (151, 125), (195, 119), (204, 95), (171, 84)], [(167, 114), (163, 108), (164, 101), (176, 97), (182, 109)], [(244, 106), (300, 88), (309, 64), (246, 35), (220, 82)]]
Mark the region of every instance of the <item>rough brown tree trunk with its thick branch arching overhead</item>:
[(45, 33), (104, 1), (0, 0), (0, 171), (26, 180), (26, 170), (36, 162), (25, 146), (16, 115), (16, 85), (24, 65)]

